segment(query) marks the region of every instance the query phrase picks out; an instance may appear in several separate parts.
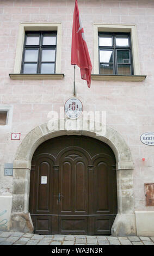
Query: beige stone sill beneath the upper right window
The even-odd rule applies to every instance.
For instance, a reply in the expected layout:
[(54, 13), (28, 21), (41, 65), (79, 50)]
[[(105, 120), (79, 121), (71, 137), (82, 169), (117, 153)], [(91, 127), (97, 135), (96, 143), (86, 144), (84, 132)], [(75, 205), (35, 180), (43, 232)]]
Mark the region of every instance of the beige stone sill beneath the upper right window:
[(142, 82), (146, 76), (124, 76), (124, 75), (91, 75), (91, 80), (95, 81), (126, 81)]

